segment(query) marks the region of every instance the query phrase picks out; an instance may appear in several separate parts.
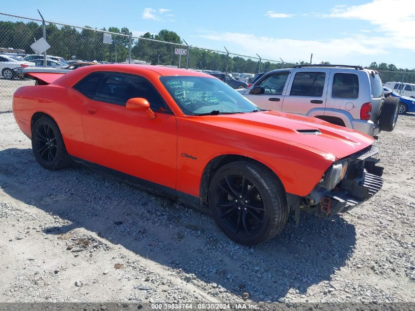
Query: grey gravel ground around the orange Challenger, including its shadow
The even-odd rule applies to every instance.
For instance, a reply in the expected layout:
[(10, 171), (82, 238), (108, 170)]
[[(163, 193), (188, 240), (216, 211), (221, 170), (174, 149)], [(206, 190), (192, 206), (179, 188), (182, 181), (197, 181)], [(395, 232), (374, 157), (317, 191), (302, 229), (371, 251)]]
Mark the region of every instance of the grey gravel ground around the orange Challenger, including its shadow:
[(42, 169), (0, 114), (1, 302), (414, 302), (415, 115), (378, 141), (384, 188), (257, 247), (208, 216), (75, 167)]

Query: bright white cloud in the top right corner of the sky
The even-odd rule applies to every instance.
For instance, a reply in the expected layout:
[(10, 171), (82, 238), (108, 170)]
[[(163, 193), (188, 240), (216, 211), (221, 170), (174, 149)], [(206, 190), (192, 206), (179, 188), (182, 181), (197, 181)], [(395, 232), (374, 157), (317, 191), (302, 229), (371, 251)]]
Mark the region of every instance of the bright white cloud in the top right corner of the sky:
[(395, 47), (415, 52), (414, 0), (372, 0), (361, 5), (335, 6), (325, 17), (367, 21)]

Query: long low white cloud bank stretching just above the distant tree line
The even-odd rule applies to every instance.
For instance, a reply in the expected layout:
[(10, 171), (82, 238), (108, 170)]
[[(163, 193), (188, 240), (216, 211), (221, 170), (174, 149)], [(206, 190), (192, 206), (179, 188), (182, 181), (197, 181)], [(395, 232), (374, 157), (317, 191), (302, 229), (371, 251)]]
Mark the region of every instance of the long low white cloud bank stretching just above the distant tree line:
[[(234, 46), (239, 53), (255, 55), (263, 58), (296, 62), (308, 59), (314, 54), (315, 61), (345, 62), (356, 64), (359, 56), (379, 56), (389, 52), (379, 44), (382, 38), (356, 34), (346, 38), (328, 38), (321, 40), (297, 40), (275, 37), (258, 37), (247, 33), (220, 32), (199, 37), (222, 41)], [(289, 59), (287, 58), (289, 57)], [(287, 59), (286, 59), (287, 58)]]

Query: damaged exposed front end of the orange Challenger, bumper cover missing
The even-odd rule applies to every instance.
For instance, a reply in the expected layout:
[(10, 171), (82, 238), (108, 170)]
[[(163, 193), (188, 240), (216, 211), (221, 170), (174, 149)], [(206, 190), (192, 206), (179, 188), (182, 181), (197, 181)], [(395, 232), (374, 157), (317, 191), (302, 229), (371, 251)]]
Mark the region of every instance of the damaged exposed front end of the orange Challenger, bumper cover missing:
[(345, 213), (374, 196), (383, 185), (383, 168), (372, 158), (377, 146), (370, 145), (347, 159), (344, 178), (331, 190), (325, 187), (324, 177), (309, 196), (303, 198), (302, 207), (315, 214)]

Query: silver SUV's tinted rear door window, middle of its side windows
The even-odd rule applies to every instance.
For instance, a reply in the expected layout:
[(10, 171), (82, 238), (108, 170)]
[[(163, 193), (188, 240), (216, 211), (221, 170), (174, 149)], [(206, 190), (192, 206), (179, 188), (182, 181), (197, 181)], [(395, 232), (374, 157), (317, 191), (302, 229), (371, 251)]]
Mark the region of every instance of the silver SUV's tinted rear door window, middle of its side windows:
[(326, 73), (324, 72), (297, 72), (291, 86), (290, 95), (321, 97), (325, 79)]

